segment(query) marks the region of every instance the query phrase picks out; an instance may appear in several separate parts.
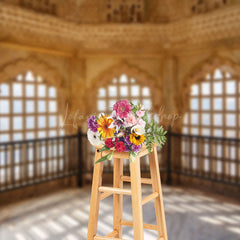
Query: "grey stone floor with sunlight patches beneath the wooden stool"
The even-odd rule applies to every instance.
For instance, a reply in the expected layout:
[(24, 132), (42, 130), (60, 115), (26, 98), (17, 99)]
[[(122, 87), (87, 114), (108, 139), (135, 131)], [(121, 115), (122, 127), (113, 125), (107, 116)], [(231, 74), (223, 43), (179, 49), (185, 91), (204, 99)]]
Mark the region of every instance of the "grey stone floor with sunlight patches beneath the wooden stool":
[[(69, 189), (0, 209), (1, 240), (86, 240), (90, 187)], [(143, 187), (143, 196), (151, 193)], [(169, 240), (240, 240), (240, 204), (194, 190), (163, 187)], [(112, 231), (112, 198), (101, 202), (98, 234)], [(155, 224), (154, 206), (143, 208), (144, 222)], [(124, 218), (131, 219), (131, 199), (124, 197)], [(123, 238), (133, 239), (130, 227)], [(155, 240), (146, 230), (145, 240)]]

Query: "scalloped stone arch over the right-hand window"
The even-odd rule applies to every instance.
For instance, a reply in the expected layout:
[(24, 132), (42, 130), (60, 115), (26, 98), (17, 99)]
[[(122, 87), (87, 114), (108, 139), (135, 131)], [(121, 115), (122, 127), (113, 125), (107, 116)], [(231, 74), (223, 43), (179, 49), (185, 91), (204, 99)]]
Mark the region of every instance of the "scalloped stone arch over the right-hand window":
[(189, 108), (190, 88), (194, 83), (199, 83), (205, 80), (205, 75), (220, 67), (231, 73), (233, 76), (240, 76), (240, 65), (233, 60), (222, 58), (219, 56), (210, 57), (195, 65), (190, 73), (182, 81), (182, 88), (179, 98), (175, 99), (177, 109), (180, 114), (184, 114)]

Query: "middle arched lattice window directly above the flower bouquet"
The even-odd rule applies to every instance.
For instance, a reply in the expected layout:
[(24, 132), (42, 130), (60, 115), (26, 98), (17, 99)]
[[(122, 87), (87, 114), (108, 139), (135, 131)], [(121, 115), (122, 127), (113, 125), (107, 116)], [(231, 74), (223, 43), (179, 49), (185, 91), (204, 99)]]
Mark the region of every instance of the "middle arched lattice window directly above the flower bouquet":
[[(150, 88), (147, 85), (140, 85), (135, 78), (129, 77), (126, 74), (114, 78), (110, 84), (98, 89), (97, 112), (110, 113), (114, 103), (120, 99), (126, 99), (134, 104), (140, 101), (145, 109), (153, 115), (151, 112), (152, 96)], [(157, 117), (155, 118), (158, 120)]]

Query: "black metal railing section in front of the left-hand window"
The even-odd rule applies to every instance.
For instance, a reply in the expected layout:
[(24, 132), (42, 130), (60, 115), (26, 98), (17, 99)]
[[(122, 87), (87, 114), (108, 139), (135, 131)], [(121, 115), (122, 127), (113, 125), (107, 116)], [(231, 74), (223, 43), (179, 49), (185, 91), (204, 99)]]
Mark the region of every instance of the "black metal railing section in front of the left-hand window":
[(0, 143), (0, 191), (78, 173), (78, 135)]

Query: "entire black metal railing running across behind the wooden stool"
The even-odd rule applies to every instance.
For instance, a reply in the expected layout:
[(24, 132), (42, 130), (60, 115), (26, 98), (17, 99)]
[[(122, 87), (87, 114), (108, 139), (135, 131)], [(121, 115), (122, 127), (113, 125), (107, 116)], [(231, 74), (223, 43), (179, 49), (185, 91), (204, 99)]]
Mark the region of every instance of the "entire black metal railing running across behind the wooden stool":
[[(168, 132), (168, 141), (158, 148), (159, 166), (171, 184), (172, 174), (240, 185), (240, 139), (203, 137)], [(72, 175), (82, 186), (85, 173), (92, 173), (95, 148), (81, 133), (0, 143), (0, 192)], [(113, 171), (113, 161), (104, 162), (104, 172)], [(141, 171), (149, 172), (148, 156)], [(124, 172), (129, 162), (124, 160)]]

